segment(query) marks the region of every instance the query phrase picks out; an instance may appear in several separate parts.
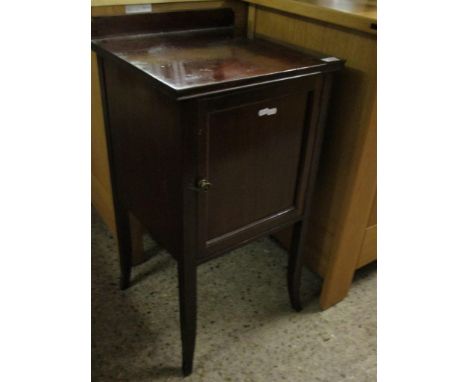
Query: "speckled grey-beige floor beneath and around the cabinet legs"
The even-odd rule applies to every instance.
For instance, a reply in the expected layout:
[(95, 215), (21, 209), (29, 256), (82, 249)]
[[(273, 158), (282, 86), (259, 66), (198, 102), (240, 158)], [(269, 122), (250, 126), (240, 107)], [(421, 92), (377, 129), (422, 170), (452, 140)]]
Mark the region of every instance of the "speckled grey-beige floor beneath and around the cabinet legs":
[(194, 372), (183, 379), (176, 263), (149, 239), (145, 249), (154, 257), (121, 292), (116, 241), (93, 211), (93, 382), (376, 380), (375, 264), (324, 312), (305, 270), (301, 313), (288, 302), (286, 252), (270, 239), (201, 265)]

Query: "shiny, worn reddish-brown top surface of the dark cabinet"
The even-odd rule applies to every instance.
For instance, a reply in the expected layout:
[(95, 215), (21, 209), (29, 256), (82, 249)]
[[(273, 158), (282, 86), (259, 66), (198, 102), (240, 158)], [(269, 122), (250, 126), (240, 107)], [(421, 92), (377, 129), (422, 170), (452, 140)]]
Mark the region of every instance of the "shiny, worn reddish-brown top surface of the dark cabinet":
[(330, 66), (320, 58), (219, 30), (127, 35), (95, 39), (119, 57), (174, 90), (265, 76), (302, 74)]

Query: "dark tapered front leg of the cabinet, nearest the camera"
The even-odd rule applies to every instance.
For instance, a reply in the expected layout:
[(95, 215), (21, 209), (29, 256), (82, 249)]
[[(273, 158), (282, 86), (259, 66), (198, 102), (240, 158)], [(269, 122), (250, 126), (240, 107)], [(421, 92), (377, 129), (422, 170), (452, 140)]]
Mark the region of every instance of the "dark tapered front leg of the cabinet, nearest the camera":
[(180, 330), (182, 336), (182, 372), (190, 375), (193, 369), (195, 336), (197, 328), (196, 265), (178, 263)]

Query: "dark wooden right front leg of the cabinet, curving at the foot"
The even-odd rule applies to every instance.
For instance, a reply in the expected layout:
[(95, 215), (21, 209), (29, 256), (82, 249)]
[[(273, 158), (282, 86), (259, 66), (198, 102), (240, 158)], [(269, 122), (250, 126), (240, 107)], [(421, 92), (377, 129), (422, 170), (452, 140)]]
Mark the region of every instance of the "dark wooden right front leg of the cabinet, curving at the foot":
[(291, 251), (288, 263), (288, 292), (293, 309), (302, 310), (301, 304), (301, 275), (303, 265), (303, 232), (304, 224), (296, 223), (293, 228)]

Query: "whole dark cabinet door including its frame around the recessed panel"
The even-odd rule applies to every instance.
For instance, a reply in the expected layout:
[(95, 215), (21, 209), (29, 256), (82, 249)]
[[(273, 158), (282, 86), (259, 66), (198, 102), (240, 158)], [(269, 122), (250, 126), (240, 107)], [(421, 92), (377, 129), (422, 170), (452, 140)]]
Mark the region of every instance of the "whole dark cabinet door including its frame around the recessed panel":
[(249, 92), (203, 102), (199, 126), (202, 256), (302, 214), (313, 92)]

